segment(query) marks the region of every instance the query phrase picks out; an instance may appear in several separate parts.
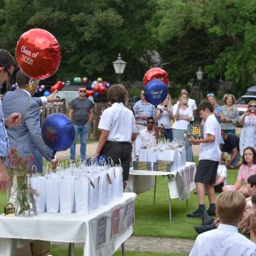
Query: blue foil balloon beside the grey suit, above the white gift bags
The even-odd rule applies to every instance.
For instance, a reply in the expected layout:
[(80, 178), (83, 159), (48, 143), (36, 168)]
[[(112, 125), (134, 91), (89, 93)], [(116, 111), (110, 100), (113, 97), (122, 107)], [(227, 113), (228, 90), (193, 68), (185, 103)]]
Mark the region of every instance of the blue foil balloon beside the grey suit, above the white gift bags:
[(52, 113), (42, 125), (44, 143), (53, 151), (70, 148), (75, 138), (74, 125), (63, 113)]

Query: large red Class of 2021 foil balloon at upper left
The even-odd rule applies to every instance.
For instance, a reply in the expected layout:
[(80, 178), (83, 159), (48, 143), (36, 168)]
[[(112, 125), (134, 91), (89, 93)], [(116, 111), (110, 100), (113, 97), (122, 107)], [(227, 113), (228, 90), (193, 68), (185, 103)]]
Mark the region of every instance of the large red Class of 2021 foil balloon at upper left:
[(41, 28), (23, 33), (16, 45), (16, 60), (29, 78), (52, 76), (61, 63), (61, 48), (55, 37)]

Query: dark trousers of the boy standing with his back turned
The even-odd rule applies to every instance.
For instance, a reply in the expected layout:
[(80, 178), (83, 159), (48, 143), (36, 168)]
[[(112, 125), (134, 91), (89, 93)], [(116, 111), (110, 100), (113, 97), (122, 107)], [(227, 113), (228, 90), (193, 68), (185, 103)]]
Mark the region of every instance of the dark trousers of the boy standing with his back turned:
[(131, 143), (107, 142), (102, 148), (101, 154), (111, 157), (113, 165), (119, 165), (123, 168), (123, 180), (129, 179), (131, 163)]

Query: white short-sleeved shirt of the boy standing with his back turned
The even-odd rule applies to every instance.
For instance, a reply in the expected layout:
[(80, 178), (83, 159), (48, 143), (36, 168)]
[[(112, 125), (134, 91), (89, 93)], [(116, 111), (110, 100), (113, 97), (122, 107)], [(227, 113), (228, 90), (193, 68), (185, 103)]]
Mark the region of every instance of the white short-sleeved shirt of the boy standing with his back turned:
[(133, 113), (117, 102), (103, 111), (98, 128), (109, 131), (108, 141), (111, 142), (131, 143), (131, 134), (136, 133)]

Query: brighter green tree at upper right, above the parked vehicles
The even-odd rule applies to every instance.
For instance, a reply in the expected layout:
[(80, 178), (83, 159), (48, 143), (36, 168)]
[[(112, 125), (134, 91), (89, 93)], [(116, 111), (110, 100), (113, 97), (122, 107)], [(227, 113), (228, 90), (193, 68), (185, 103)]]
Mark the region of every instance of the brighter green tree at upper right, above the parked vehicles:
[[(163, 55), (171, 70), (176, 72), (172, 65), (179, 63), (178, 70), (188, 73), (187, 79), (201, 66), (209, 79), (221, 76), (241, 91), (252, 81), (256, 67), (255, 11), (255, 1), (158, 0), (149, 27), (160, 45), (172, 43), (170, 55), (168, 48)], [(177, 83), (183, 82), (175, 75)]]

